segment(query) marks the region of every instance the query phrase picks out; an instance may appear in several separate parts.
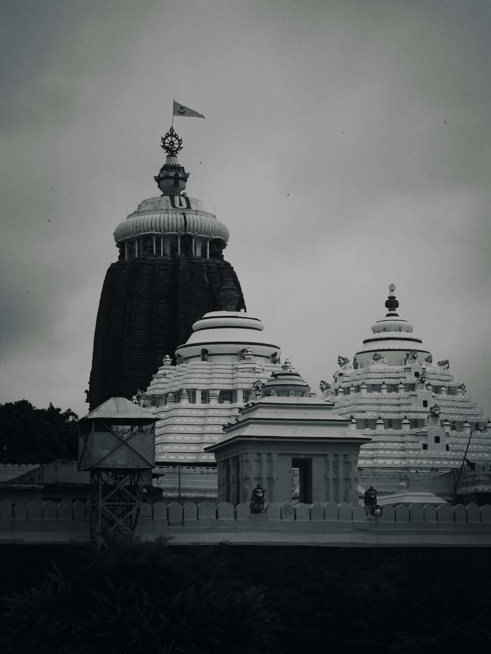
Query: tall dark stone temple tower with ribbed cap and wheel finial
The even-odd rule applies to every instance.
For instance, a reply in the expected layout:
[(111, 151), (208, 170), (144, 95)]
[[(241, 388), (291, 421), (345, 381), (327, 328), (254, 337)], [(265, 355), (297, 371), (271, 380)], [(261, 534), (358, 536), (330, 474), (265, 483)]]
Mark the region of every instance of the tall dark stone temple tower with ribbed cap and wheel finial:
[(183, 192), (189, 173), (177, 161), (181, 144), (171, 128), (162, 138), (166, 163), (155, 177), (162, 196), (143, 200), (115, 230), (120, 254), (101, 293), (91, 410), (147, 388), (162, 358), (174, 356), (204, 313), (230, 298), (235, 311), (245, 309), (237, 275), (223, 259), (227, 228)]

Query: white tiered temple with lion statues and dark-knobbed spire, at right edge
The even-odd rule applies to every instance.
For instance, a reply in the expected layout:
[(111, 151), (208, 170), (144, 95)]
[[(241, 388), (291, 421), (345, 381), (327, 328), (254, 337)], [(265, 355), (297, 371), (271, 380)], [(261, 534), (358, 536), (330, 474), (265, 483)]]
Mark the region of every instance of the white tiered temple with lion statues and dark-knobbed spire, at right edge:
[[(465, 383), (454, 380), (449, 361), (433, 361), (412, 324), (399, 316), (395, 286), (389, 290), (387, 313), (372, 325), (372, 335), (352, 362), (339, 356), (333, 383), (320, 386), (337, 413), (372, 439), (361, 447), (361, 487), (400, 492), (403, 480), (448, 500), (458, 490), (469, 501), (488, 501), (491, 422)], [(471, 465), (464, 466), (456, 489), (452, 471), (464, 458)]]

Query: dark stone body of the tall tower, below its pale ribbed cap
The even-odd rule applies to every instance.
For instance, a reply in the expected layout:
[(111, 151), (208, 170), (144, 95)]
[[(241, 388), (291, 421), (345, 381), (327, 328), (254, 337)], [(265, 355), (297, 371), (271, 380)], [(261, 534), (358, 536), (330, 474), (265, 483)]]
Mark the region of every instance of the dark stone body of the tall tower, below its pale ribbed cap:
[(245, 308), (237, 275), (226, 261), (196, 256), (139, 256), (109, 267), (99, 304), (89, 404), (129, 400), (145, 390), (166, 354), (192, 333), (207, 311), (221, 309), (219, 293), (232, 279), (236, 309)]

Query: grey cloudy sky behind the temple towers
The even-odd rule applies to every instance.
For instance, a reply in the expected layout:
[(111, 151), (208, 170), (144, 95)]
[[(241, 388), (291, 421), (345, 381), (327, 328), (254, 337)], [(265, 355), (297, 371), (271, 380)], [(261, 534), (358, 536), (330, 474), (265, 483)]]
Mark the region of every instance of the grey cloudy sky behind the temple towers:
[(317, 390), (403, 317), (490, 399), (491, 5), (4, 0), (0, 402), (87, 411), (113, 230), (158, 195), (172, 101), (189, 195), (247, 310)]

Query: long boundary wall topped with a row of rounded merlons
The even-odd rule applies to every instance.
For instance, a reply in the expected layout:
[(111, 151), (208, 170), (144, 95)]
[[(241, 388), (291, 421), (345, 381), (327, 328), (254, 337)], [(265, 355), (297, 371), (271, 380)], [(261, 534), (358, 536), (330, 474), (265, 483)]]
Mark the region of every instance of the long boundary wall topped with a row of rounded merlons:
[[(90, 506), (81, 501), (0, 502), (0, 543), (63, 543), (86, 540)], [(336, 547), (491, 547), (491, 506), (411, 504), (384, 506), (367, 517), (359, 505), (269, 504), (251, 514), (248, 504), (228, 502), (144, 503), (143, 539), (161, 534), (175, 545), (228, 541), (237, 545)]]

